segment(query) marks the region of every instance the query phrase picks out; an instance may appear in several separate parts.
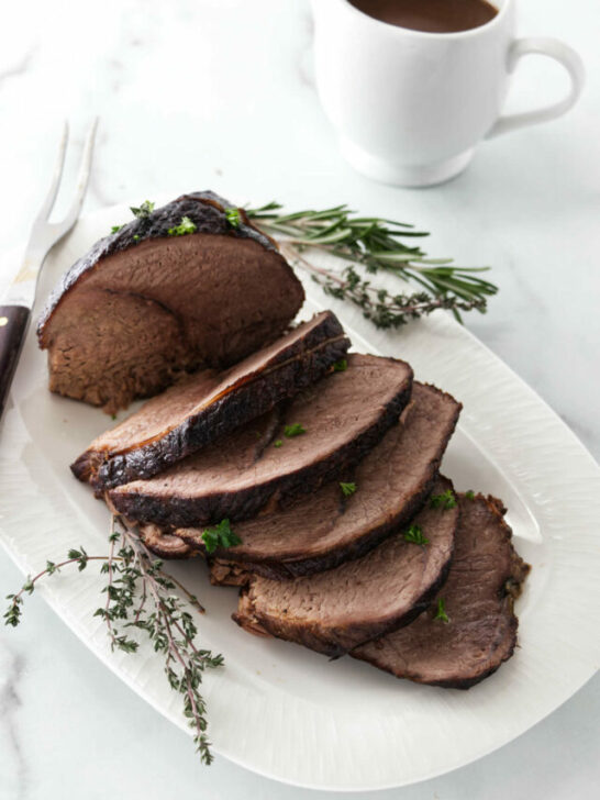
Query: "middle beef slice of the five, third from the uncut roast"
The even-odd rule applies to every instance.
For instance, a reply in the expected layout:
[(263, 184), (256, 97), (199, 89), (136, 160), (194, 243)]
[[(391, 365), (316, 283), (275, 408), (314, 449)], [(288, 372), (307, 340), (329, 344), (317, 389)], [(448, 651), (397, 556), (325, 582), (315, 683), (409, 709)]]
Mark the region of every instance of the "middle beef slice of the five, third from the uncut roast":
[[(289, 508), (237, 523), (242, 544), (211, 557), (213, 582), (238, 586), (248, 571), (275, 580), (311, 575), (367, 553), (421, 508), (459, 411), (449, 395), (415, 382), (402, 424), (343, 476), (354, 495), (345, 497), (333, 481)], [(155, 525), (144, 530), (148, 546), (163, 557), (204, 549), (201, 529), (166, 532), (164, 540), (160, 534)]]

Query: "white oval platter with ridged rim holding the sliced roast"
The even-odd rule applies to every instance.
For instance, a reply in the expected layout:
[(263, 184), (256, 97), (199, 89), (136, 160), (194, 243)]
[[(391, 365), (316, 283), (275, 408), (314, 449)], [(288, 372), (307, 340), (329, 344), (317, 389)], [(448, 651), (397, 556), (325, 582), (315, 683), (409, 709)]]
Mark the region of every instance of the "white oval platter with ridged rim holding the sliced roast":
[[(40, 296), (126, 207), (77, 224), (49, 256)], [(248, 636), (231, 620), (234, 589), (209, 585), (197, 560), (174, 574), (201, 598), (202, 645), (225, 667), (207, 675), (216, 754), (289, 784), (340, 791), (400, 787), (465, 765), (551, 713), (598, 668), (600, 468), (558, 416), (468, 331), (444, 313), (397, 333), (305, 284), (303, 315), (334, 308), (357, 351), (409, 360), (419, 379), (464, 403), (443, 469), (458, 489), (501, 497), (533, 569), (518, 602), (520, 648), (467, 692), (400, 681), (352, 658)], [(108, 512), (68, 465), (104, 430), (99, 410), (51, 395), (45, 354), (30, 331), (0, 432), (0, 541), (24, 573), (71, 546), (104, 554)], [(151, 647), (111, 653), (99, 618), (101, 576), (63, 573), (40, 591), (79, 638), (164, 716), (188, 730)], [(110, 698), (107, 698), (110, 703)], [(195, 758), (190, 741), (190, 759)]]

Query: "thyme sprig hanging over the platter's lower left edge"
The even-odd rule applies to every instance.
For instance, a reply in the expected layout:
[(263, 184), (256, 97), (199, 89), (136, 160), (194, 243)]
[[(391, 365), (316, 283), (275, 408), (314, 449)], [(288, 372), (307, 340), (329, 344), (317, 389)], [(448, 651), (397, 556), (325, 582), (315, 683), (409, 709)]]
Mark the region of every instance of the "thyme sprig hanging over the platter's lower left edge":
[(191, 592), (164, 571), (163, 562), (152, 556), (137, 530), (122, 518), (111, 518), (108, 555), (90, 556), (84, 547), (70, 549), (65, 560), (59, 564), (46, 562), (45, 569), (34, 577), (29, 576), (20, 591), (8, 596), (10, 605), (4, 613), (5, 624), (13, 627), (19, 624), (23, 597), (34, 591), (41, 578), (70, 565), (77, 565), (81, 571), (89, 562), (102, 562), (101, 573), (107, 575), (103, 589), (107, 601), (95, 616), (104, 620), (112, 649), (135, 653), (140, 643), (132, 637), (132, 629), (147, 634), (154, 651), (164, 655), (171, 689), (184, 698), (184, 713), (193, 729), (200, 758), (210, 764), (213, 756), (207, 737), (207, 707), (200, 695), (200, 684), (204, 669), (220, 667), (223, 656), (213, 656), (210, 651), (197, 647), (198, 629), (176, 588), (197, 611), (202, 613), (203, 608)]

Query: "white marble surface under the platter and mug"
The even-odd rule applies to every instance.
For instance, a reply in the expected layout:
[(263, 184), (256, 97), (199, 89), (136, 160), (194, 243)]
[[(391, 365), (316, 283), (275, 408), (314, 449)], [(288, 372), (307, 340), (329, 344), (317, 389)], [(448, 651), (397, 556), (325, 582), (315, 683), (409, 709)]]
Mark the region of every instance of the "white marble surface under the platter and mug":
[[(63, 118), (80, 142), (96, 113), (87, 210), (213, 188), (237, 202), (346, 201), (405, 219), (434, 232), (430, 253), (493, 266), (501, 292), (468, 326), (598, 458), (600, 8), (597, 0), (520, 5), (524, 35), (562, 36), (584, 56), (589, 80), (580, 104), (563, 120), (481, 145), (457, 180), (409, 191), (371, 184), (341, 160), (312, 87), (304, 0), (4, 4), (0, 252), (27, 233)], [(565, 86), (558, 67), (532, 58), (510, 103), (542, 102)], [(71, 178), (75, 163), (74, 155)], [(0, 263), (0, 281), (7, 278)], [(0, 593), (20, 580), (2, 557)], [(591, 797), (600, 785), (599, 714), (597, 677), (501, 751), (380, 797)], [(24, 624), (0, 632), (0, 799), (149, 800), (175, 791), (227, 800), (309, 796), (224, 759), (202, 768), (190, 741), (32, 598)]]

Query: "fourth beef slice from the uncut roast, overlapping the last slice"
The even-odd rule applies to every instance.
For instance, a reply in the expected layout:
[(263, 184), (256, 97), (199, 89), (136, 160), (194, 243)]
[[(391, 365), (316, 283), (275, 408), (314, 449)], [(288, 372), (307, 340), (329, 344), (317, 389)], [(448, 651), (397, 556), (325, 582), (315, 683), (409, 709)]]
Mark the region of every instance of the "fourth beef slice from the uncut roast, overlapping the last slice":
[(427, 503), (410, 527), (362, 558), (304, 578), (253, 578), (234, 620), (329, 656), (407, 625), (427, 608), (449, 566), (458, 505), (449, 480), (438, 478), (433, 493), (444, 492), (451, 502)]

